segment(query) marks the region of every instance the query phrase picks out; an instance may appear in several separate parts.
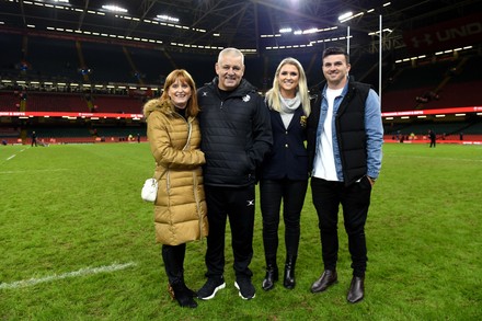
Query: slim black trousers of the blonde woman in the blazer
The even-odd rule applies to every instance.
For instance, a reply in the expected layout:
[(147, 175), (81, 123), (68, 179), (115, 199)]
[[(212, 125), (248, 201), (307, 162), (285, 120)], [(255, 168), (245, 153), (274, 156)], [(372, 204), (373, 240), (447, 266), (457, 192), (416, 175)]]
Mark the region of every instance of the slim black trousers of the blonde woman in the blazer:
[(283, 200), (286, 257), (298, 255), (300, 216), (307, 194), (308, 180), (262, 180), (260, 205), (263, 215), (263, 243), (266, 264), (276, 265), (278, 249), (279, 210)]

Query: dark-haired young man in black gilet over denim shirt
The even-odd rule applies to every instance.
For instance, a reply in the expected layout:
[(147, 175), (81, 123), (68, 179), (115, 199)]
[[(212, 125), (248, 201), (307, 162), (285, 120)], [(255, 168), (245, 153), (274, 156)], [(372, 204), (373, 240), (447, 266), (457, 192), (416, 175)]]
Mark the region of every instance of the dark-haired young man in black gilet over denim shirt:
[(342, 205), (353, 268), (346, 299), (355, 303), (365, 296), (365, 222), (371, 187), (381, 168), (380, 100), (370, 85), (349, 78), (349, 57), (344, 49), (326, 48), (322, 69), (326, 82), (311, 91), (314, 99), (307, 127), (311, 193), (324, 265), (311, 291), (322, 293), (337, 282), (337, 222)]

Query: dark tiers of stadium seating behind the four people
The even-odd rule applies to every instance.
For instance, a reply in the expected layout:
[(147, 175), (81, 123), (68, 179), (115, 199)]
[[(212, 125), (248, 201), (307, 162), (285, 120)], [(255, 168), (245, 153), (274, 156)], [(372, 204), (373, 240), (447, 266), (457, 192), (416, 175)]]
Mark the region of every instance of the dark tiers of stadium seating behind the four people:
[[(131, 87), (149, 84), (162, 85), (167, 74), (174, 68), (186, 69), (196, 81), (197, 87), (213, 80), (215, 76), (216, 55), (193, 55), (190, 51), (167, 53), (148, 46), (125, 46), (125, 44), (93, 43), (71, 38), (54, 38), (26, 36), (19, 34), (0, 34), (2, 46), (2, 65), (0, 77), (24, 80), (24, 83), (36, 80), (41, 82), (77, 82), (76, 87), (65, 84), (60, 88), (37, 85), (18, 85), (13, 88), (3, 82), (0, 88), (0, 111), (18, 112), (25, 107), (26, 112), (81, 112), (81, 113), (123, 113), (140, 114), (148, 95), (129, 95), (137, 90)], [(294, 55), (305, 67), (309, 87), (323, 80), (321, 72), (321, 57), (319, 54), (299, 51)], [(246, 70), (244, 77), (265, 91), (272, 87), (273, 74), (279, 61), (286, 58), (283, 51), (269, 51), (260, 57), (246, 55)], [(391, 57), (386, 57), (383, 64), (390, 64)], [(461, 106), (477, 106), (482, 102), (482, 68), (480, 56), (452, 57), (437, 61), (417, 61), (411, 66), (392, 64), (397, 69), (391, 70), (391, 77), (383, 84), (382, 112), (413, 111), (429, 108), (447, 108)], [(23, 65), (22, 65), (23, 64)], [(360, 54), (352, 59), (351, 74), (356, 80), (371, 83), (376, 88), (378, 82), (378, 55)], [(362, 66), (362, 67), (360, 67)], [(366, 67), (369, 66), (369, 67)], [(82, 68), (89, 70), (82, 74)], [(388, 69), (387, 69), (388, 70)], [(386, 70), (386, 72), (388, 72)], [(376, 77), (374, 77), (376, 74)], [(388, 76), (388, 74), (387, 74)], [(375, 79), (375, 80), (374, 80)], [(37, 82), (38, 83), (38, 82)], [(88, 84), (88, 87), (82, 87)], [(123, 90), (112, 90), (113, 85), (123, 85)], [(108, 87), (107, 87), (108, 85)], [(26, 93), (21, 104), (19, 93)], [(436, 96), (429, 96), (435, 92)], [(427, 98), (426, 102), (417, 98)], [(400, 121), (386, 125), (387, 137), (398, 131), (417, 136), (426, 135), (428, 128), (437, 134), (446, 134), (447, 139), (459, 138), (461, 131), (466, 137), (482, 135), (480, 117), (474, 119)], [(108, 141), (119, 141), (125, 137), (137, 134), (146, 136), (144, 122), (129, 119), (101, 119), (89, 122), (95, 124), (97, 130), (93, 135), (88, 122), (62, 119), (37, 119), (27, 122), (15, 121), (9, 123), (3, 119), (0, 129), (20, 125), (23, 129), (37, 130), (39, 137), (64, 141), (96, 141), (103, 138)], [(385, 121), (387, 123), (387, 121)], [(67, 125), (60, 126), (60, 125)], [(80, 127), (79, 127), (80, 126)], [(67, 130), (66, 128), (71, 128)], [(25, 134), (20, 131), (0, 130), (0, 138), (14, 140)], [(16, 133), (16, 134), (13, 134)]]

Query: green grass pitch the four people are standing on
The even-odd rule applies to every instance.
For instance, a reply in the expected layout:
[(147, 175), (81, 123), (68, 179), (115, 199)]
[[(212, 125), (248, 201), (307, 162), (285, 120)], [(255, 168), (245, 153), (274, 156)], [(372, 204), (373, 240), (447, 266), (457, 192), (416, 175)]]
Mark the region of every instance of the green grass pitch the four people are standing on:
[[(366, 226), (366, 297), (346, 302), (349, 255), (340, 215), (338, 284), (310, 293), (322, 272), (308, 192), (294, 290), (263, 291), (261, 213), (251, 268), (256, 297), (233, 286), (197, 309), (167, 293), (147, 144), (0, 147), (0, 320), (481, 320), (482, 147), (386, 144)], [(259, 206), (259, 202), (256, 204)], [(284, 263), (280, 223), (278, 265)], [(186, 283), (204, 282), (206, 243), (187, 247)], [(283, 274), (283, 273), (282, 273)]]

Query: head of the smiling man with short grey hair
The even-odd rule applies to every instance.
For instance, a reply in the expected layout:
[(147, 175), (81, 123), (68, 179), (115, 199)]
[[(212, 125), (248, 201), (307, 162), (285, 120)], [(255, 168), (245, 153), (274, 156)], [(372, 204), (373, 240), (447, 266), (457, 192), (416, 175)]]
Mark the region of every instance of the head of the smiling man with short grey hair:
[(219, 89), (223, 91), (234, 90), (244, 74), (243, 58), (241, 56), (225, 54), (216, 62), (216, 73), (219, 77)]

